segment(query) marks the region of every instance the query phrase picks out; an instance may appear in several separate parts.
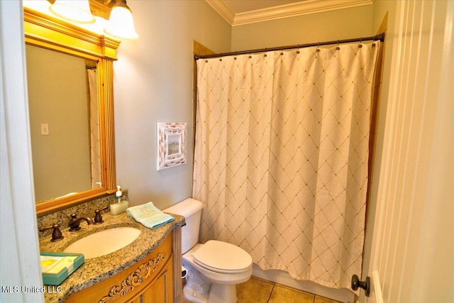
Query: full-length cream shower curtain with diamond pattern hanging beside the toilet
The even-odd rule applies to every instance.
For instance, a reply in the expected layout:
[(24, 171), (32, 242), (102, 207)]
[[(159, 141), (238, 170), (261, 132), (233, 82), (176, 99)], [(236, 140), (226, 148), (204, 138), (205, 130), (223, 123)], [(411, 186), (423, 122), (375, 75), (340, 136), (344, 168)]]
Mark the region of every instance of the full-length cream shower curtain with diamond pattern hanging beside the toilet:
[(263, 270), (348, 287), (365, 233), (380, 41), (197, 61), (193, 197), (201, 241)]

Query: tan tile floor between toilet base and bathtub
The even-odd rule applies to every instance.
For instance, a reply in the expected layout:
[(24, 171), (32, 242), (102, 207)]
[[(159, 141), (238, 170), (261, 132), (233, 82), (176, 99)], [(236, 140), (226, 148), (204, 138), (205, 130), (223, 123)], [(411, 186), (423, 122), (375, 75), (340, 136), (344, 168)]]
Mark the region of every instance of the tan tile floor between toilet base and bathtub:
[[(317, 294), (251, 277), (236, 286), (238, 303), (341, 303)], [(182, 303), (190, 303), (184, 299)]]

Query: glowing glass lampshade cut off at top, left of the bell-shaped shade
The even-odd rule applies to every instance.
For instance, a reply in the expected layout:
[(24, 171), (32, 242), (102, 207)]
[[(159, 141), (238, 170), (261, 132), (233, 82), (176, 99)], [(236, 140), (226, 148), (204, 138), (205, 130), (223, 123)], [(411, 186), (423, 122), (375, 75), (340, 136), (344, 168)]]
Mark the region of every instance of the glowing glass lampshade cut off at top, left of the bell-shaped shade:
[(55, 0), (50, 11), (60, 18), (77, 23), (94, 23), (88, 0)]

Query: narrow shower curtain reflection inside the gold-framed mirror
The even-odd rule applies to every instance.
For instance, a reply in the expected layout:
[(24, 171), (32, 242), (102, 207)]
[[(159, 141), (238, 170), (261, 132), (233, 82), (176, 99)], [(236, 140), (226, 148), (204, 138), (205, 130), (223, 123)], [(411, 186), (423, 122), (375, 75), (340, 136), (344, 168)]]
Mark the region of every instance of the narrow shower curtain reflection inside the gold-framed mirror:
[(92, 189), (102, 184), (101, 178), (101, 138), (99, 137), (98, 76), (96, 70), (87, 69), (90, 94), (90, 160)]

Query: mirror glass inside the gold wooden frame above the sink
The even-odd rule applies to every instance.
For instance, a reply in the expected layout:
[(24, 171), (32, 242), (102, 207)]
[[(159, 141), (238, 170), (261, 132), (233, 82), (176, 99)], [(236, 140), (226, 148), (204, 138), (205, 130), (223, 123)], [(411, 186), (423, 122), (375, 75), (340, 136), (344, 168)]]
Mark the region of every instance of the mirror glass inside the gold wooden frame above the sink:
[(26, 45), (36, 202), (102, 187), (96, 62)]

